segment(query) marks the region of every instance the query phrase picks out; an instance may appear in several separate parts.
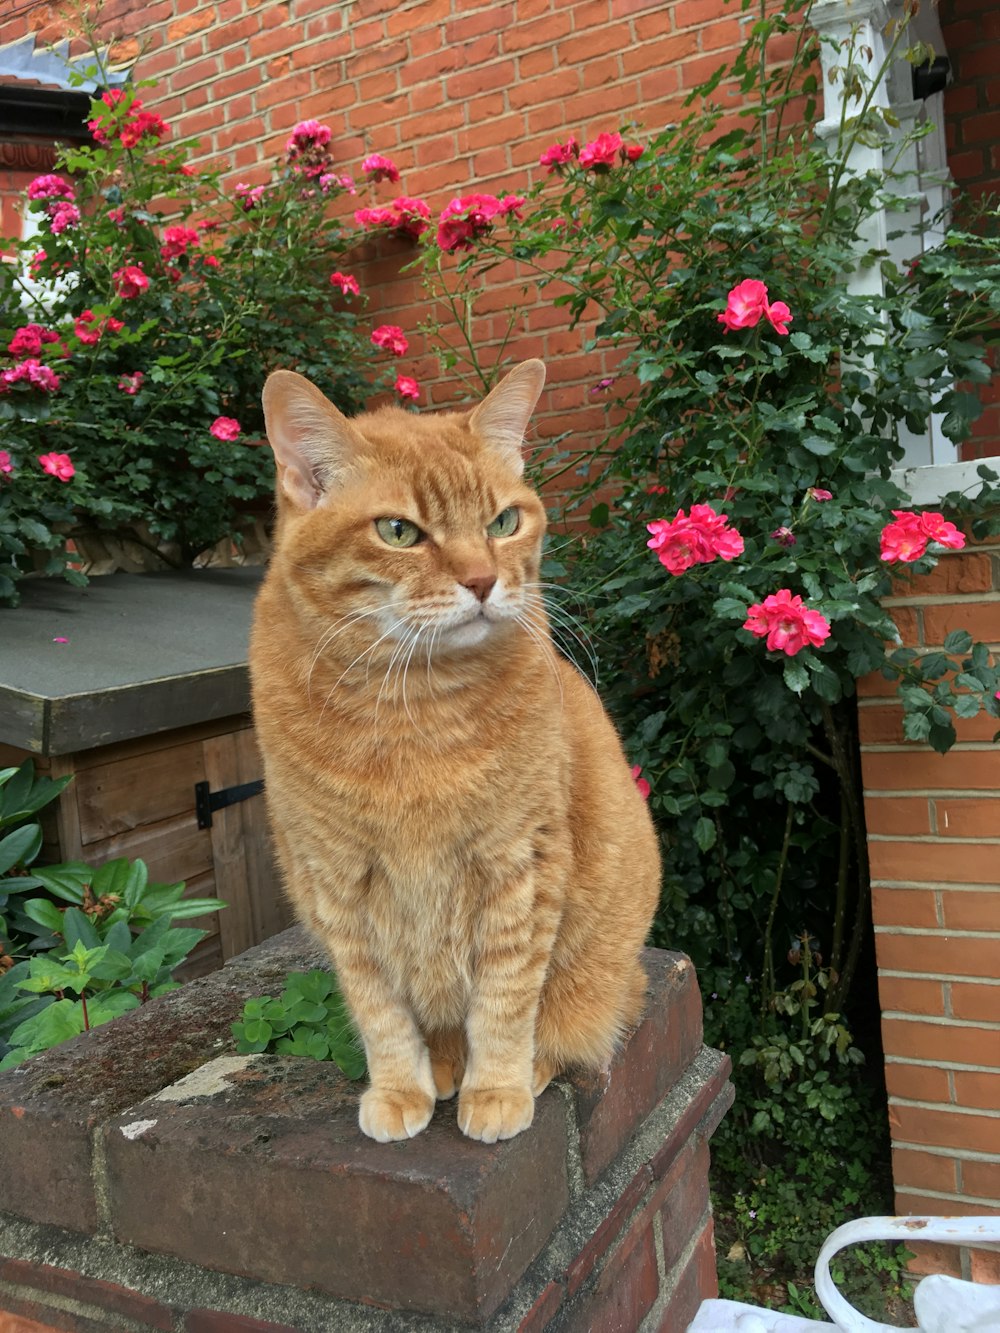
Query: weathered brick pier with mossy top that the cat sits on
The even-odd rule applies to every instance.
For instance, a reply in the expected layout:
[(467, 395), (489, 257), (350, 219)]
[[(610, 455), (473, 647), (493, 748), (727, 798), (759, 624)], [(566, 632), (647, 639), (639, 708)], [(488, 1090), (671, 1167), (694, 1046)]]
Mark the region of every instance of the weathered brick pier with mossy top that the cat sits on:
[(453, 1104), (375, 1144), (335, 1066), (221, 1054), (247, 996), (320, 961), (285, 932), (0, 1076), (0, 1172), (21, 1213), (0, 1221), (17, 1264), (0, 1266), (0, 1312), (71, 1333), (101, 1309), (123, 1333), (693, 1317), (715, 1290), (707, 1142), (732, 1089), (687, 958), (648, 952), (648, 1012), (607, 1084), (557, 1080), (535, 1125), (491, 1146), (459, 1133)]

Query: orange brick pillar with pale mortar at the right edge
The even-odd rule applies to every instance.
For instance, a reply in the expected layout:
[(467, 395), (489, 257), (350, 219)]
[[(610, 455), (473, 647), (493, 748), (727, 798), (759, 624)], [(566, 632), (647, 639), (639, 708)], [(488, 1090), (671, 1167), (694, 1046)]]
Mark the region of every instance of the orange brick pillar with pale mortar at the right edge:
[[(964, 628), (996, 649), (1000, 544), (944, 556), (887, 605), (907, 647)], [(892, 690), (859, 682), (896, 1212), (1000, 1213), (1000, 722), (959, 720), (936, 754), (903, 740)], [(984, 1252), (917, 1266), (1000, 1281)]]

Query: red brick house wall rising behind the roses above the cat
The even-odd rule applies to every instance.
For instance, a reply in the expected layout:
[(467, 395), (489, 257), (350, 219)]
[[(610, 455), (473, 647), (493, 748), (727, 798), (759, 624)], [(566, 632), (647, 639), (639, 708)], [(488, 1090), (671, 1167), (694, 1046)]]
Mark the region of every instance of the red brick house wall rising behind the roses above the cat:
[[(539, 155), (569, 132), (585, 141), (632, 119), (661, 129), (741, 29), (725, 0), (109, 0), (101, 23), (119, 36), (141, 33), (135, 76), (157, 80), (143, 95), (148, 105), (175, 140), (200, 137), (196, 159), (220, 164), (229, 185), (260, 179), (291, 127), (316, 117), (332, 127), (343, 169), (357, 172), (369, 152), (397, 163), (401, 187), (381, 187), (380, 203), (419, 195), (435, 216), (473, 187), (523, 191), (543, 171)], [(40, 41), (61, 36), (60, 5), (0, 20), (0, 43), (28, 27)], [(360, 191), (352, 207), (369, 203)], [(397, 323), (411, 339), (400, 369), (439, 407), (468, 391), (440, 376), (416, 333), (427, 297), (399, 273), (409, 259), (407, 245), (380, 240), (359, 272), (373, 324)], [(496, 279), (476, 321), (484, 363), (495, 359), (508, 308), (517, 308), (508, 353), (552, 365), (539, 440), (567, 431), (600, 437), (603, 407), (589, 389), (608, 361), (583, 353), (584, 331), (568, 331), (564, 311), (533, 289), (524, 295), (515, 275), (507, 289)]]

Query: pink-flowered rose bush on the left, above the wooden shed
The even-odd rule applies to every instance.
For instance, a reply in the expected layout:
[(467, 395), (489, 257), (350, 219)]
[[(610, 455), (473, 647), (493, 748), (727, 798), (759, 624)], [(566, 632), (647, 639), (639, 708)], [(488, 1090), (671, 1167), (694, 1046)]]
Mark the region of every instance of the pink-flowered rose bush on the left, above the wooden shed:
[[(368, 228), (331, 208), (355, 185), (329, 127), (300, 123), (267, 180), (225, 189), (136, 88), (96, 97), (88, 124), (93, 144), (28, 187), (39, 235), (0, 264), (0, 603), (32, 571), (79, 577), (68, 535), (124, 533), (176, 565), (239, 540), (272, 491), (255, 448), (268, 372), (293, 367), (351, 412), (392, 392), (381, 348), (407, 345), (373, 345), (341, 272)], [(363, 171), (399, 179), (379, 155)], [(391, 212), (412, 235), (429, 209)]]

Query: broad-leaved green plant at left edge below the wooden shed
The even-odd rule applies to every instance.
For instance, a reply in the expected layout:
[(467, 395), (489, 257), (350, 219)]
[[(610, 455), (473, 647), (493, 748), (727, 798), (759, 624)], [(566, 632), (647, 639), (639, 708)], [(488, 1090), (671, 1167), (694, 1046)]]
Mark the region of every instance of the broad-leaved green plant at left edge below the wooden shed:
[[(36, 865), (33, 816), (68, 781), (39, 777), (31, 760), (0, 770), (0, 1069), (173, 989), (207, 933), (173, 922), (225, 906), (151, 882), (139, 860)], [(47, 896), (27, 897), (35, 889)]]

